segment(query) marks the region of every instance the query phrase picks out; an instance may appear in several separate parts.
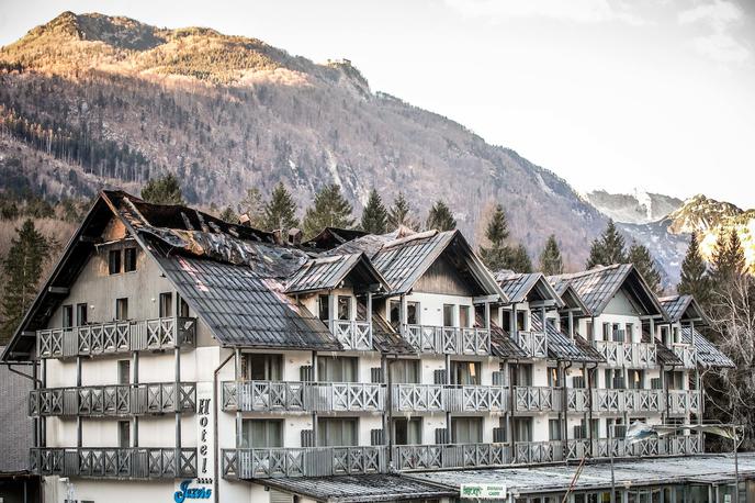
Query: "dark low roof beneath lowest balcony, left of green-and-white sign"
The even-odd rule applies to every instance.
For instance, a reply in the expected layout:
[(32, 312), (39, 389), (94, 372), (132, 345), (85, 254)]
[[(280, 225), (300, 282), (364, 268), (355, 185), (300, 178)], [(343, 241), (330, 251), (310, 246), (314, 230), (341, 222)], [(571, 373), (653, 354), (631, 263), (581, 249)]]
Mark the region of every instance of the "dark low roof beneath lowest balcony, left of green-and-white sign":
[(431, 500), (459, 495), (459, 490), (437, 482), (388, 473), (266, 479), (258, 483), (328, 503)]

